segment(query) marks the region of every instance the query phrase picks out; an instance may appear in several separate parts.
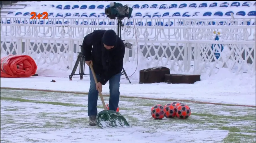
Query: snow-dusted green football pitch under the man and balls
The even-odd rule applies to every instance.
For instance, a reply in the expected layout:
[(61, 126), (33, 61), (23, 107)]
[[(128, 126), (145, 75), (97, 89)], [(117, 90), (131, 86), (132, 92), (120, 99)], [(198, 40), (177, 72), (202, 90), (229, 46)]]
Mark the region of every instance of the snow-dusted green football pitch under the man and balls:
[(120, 98), (132, 127), (99, 129), (88, 127), (87, 95), (1, 89), (1, 143), (255, 142), (254, 107), (187, 102), (187, 120), (151, 117), (153, 105), (170, 102)]

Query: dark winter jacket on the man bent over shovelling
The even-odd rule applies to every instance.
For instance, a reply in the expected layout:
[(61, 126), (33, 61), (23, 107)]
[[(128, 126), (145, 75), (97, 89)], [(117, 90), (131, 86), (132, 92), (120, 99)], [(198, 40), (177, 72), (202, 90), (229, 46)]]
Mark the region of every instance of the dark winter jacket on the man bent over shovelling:
[(106, 30), (95, 30), (84, 37), (82, 54), (85, 61), (92, 60), (93, 69), (100, 75), (98, 82), (105, 85), (114, 75), (120, 73), (123, 68), (123, 58), (125, 55), (125, 45), (116, 35), (116, 44), (111, 50), (107, 50), (102, 42), (103, 34)]

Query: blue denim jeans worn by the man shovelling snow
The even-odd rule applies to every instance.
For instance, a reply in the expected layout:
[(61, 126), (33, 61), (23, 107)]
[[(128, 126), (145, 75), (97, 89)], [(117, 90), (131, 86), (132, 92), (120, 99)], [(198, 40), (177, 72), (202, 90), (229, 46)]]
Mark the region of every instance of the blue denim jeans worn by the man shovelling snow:
[[(96, 74), (97, 80), (99, 75)], [(116, 111), (119, 103), (119, 86), (120, 86), (121, 73), (118, 73), (109, 79), (109, 110)], [(98, 102), (98, 90), (96, 90), (96, 83), (94, 81), (91, 69), (90, 69), (90, 89), (88, 93), (88, 116), (97, 115), (97, 102)]]

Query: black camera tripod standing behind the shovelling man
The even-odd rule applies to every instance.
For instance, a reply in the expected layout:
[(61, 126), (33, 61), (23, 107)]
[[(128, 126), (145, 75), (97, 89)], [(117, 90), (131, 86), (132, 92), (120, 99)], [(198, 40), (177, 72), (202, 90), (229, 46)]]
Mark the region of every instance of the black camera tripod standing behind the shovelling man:
[[(117, 27), (118, 32), (117, 32), (117, 35), (120, 38), (121, 38), (121, 27), (122, 26), (124, 26), (123, 23), (122, 23), (122, 20), (118, 19), (118, 27)], [(75, 74), (79, 63), (80, 63), (79, 74)], [(73, 68), (73, 70), (71, 72), (71, 75), (69, 75), (69, 80), (72, 80), (72, 77), (74, 75), (80, 75), (80, 80), (82, 80), (83, 76), (87, 75), (87, 74), (84, 73), (84, 67), (85, 67), (84, 56), (82, 55), (82, 52), (79, 52), (79, 54), (77, 56), (76, 63), (75, 63), (74, 68)], [(124, 67), (123, 67), (123, 70), (121, 71), (121, 75), (125, 75), (126, 79), (129, 81), (129, 83), (131, 83), (128, 75), (125, 72)]]

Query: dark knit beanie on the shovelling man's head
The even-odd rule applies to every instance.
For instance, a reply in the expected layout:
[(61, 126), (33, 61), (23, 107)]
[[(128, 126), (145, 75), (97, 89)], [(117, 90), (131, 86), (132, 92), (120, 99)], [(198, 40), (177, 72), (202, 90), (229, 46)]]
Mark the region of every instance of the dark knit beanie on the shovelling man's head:
[(116, 45), (117, 35), (114, 30), (107, 30), (102, 37), (102, 41), (107, 46)]

